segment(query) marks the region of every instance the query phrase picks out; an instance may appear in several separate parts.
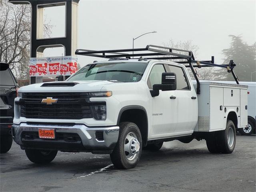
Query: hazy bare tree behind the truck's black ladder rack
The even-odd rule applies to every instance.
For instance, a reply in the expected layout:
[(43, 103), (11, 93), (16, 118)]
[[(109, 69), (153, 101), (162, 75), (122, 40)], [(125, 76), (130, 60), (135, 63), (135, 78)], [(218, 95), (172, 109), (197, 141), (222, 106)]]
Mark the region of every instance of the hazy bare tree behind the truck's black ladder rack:
[[(188, 51), (192, 51), (194, 57), (196, 58), (198, 55), (198, 50), (199, 47), (197, 45), (194, 45), (192, 43), (192, 40), (187, 40), (187, 41), (179, 41), (179, 42), (174, 42), (174, 40), (170, 40), (168, 43), (163, 43), (163, 45), (165, 47), (171, 47), (171, 48), (176, 48), (176, 49), (182, 49), (182, 50), (188, 50)], [(180, 52), (180, 51), (176, 51), (176, 53), (178, 54), (188, 54), (186, 52)], [(176, 61), (176, 60), (172, 60), (172, 61)], [(185, 60), (184, 60), (185, 61)], [(190, 77), (192, 79), (194, 79), (194, 75), (192, 74), (192, 71), (190, 70), (190, 68), (187, 68), (188, 72), (190, 74)], [(213, 67), (202, 67), (202, 68), (195, 68), (197, 74), (198, 74), (198, 78), (200, 80), (215, 80), (215, 76), (214, 76), (214, 68)]]

